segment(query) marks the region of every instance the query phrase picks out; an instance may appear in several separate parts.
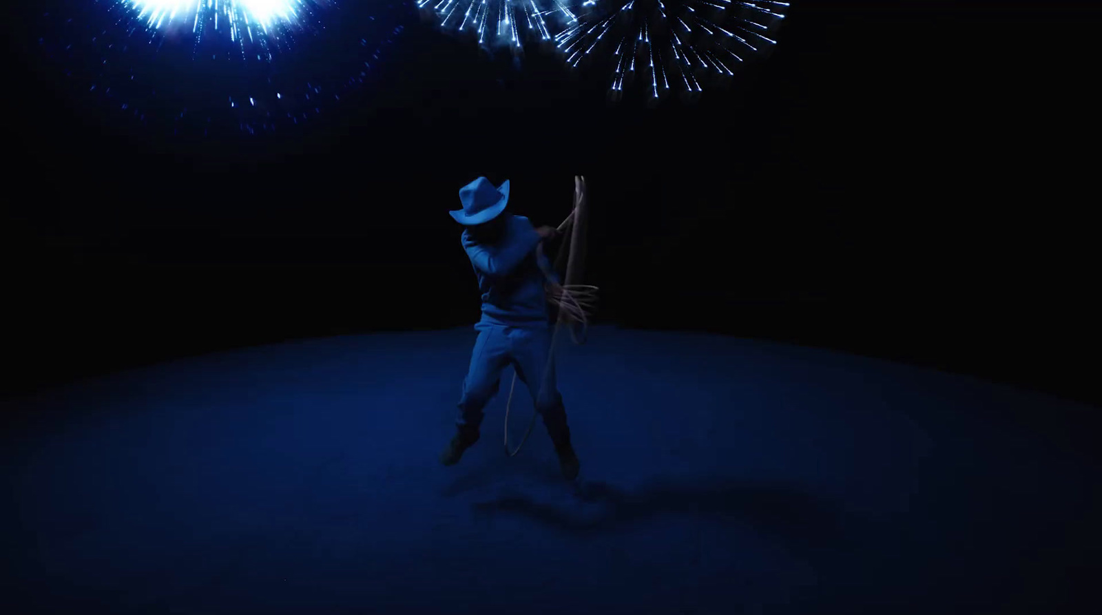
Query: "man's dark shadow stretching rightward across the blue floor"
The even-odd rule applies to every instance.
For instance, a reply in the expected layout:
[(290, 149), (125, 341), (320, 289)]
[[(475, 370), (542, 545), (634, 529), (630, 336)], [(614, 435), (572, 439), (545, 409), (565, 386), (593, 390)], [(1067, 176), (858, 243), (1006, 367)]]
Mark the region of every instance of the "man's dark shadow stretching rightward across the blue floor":
[(572, 512), (527, 495), (509, 495), (474, 505), (482, 515), (512, 514), (580, 537), (663, 515), (681, 515), (725, 524), (747, 525), (799, 550), (836, 547), (842, 542), (841, 516), (825, 500), (781, 484), (726, 482), (712, 485), (655, 484), (628, 493), (607, 483), (576, 485), (575, 498), (598, 505), (593, 512)]

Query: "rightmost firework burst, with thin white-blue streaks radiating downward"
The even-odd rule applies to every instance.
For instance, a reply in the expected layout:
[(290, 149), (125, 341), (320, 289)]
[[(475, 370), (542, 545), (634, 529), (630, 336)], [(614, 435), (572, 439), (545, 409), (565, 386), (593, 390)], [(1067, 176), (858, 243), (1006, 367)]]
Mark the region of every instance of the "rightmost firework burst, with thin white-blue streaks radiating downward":
[(774, 0), (585, 0), (561, 11), (555, 46), (568, 64), (604, 64), (613, 93), (638, 80), (658, 98), (703, 91), (777, 44), (788, 2)]

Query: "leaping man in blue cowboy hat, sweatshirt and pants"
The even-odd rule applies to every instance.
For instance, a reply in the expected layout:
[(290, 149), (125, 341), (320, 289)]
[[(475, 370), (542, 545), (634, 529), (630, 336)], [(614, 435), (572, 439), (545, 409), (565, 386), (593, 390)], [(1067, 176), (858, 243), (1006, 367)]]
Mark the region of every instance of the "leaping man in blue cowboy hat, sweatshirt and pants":
[(444, 465), (458, 463), (464, 451), (478, 441), (483, 409), (497, 395), (503, 370), (512, 365), (543, 418), (562, 475), (573, 481), (579, 462), (555, 387), (544, 294), (544, 281), (558, 287), (559, 280), (542, 250), (537, 250), (559, 233), (548, 226), (533, 228), (528, 218), (506, 213), (508, 201), (508, 181), (494, 187), (486, 177), (478, 177), (460, 190), (463, 208), (451, 212), (466, 227), (463, 248), (478, 279), (482, 320), (475, 325), (478, 338), (463, 381), (457, 432), (440, 461)]

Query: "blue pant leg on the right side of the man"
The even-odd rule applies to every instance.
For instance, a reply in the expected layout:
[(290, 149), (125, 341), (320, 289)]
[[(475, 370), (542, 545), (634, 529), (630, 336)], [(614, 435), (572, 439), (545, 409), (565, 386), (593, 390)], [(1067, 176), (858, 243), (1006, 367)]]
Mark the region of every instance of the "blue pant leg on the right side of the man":
[(536, 411), (555, 445), (570, 441), (566, 410), (555, 381), (554, 357), (551, 355), (551, 330), (517, 328), (511, 332), (511, 355), (517, 376), (528, 385)]

